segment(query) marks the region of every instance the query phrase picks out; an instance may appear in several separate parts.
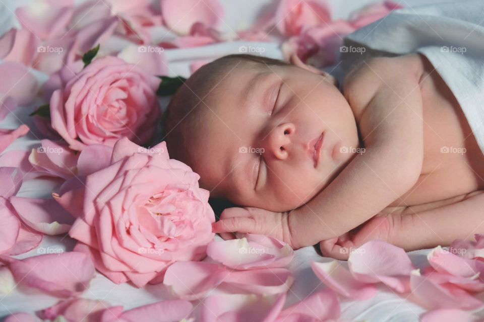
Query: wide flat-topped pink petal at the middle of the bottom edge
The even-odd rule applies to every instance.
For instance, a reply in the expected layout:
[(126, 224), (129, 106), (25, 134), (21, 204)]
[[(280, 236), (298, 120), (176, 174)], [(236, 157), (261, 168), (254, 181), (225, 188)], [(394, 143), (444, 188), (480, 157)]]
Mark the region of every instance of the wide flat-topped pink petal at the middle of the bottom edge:
[(228, 294), (211, 295), (202, 300), (196, 320), (218, 321), (274, 321), (286, 300), (279, 295)]

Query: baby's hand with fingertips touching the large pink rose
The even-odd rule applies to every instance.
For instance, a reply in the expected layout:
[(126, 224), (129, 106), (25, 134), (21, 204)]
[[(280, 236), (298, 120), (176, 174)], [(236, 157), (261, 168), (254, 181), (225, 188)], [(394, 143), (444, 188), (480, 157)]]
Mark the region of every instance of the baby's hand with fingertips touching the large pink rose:
[(230, 239), (226, 232), (236, 231), (267, 235), (293, 247), (287, 220), (288, 213), (254, 207), (227, 208), (222, 211), (220, 220), (212, 224), (212, 231), (220, 232), (224, 239)]

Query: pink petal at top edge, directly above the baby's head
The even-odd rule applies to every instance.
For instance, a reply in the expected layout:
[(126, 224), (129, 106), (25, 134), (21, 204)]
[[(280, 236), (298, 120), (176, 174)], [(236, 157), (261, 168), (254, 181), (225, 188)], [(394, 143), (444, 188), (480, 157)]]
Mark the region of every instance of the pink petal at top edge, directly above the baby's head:
[(161, 15), (168, 28), (187, 35), (196, 22), (217, 27), (223, 8), (218, 0), (161, 0)]

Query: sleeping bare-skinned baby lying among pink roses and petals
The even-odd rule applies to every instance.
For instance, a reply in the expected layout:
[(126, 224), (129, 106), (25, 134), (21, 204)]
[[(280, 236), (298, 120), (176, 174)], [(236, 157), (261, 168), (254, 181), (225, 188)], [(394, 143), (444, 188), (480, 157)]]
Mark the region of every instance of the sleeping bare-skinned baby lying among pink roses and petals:
[(295, 55), (235, 54), (178, 89), (165, 139), (211, 197), (239, 206), (213, 224), (223, 238), (346, 259), (370, 239), (410, 251), (484, 233), (484, 155), (463, 110), (417, 51), (361, 59), (341, 85)]

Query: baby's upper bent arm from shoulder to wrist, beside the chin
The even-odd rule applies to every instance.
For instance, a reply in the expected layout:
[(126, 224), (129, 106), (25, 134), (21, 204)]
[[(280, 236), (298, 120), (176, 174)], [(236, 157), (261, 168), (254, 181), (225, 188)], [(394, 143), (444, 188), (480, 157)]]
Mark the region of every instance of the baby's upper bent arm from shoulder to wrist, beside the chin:
[(351, 230), (418, 180), (423, 162), (418, 64), (402, 63), (411, 61), (376, 58), (362, 63), (348, 76), (344, 94), (366, 150), (315, 198), (289, 214), (294, 248)]

